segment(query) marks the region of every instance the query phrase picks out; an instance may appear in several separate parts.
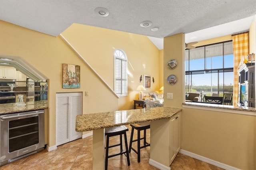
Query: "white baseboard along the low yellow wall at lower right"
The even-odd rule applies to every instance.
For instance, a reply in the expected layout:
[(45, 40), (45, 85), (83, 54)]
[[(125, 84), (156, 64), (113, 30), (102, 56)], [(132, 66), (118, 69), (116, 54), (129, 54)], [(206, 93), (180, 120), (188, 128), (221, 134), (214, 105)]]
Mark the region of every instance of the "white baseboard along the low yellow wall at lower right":
[(214, 166), (218, 166), (218, 167), (223, 168), (223, 169), (225, 169), (225, 170), (240, 170), (240, 169), (235, 168), (235, 167), (233, 167), (233, 166), (229, 166), (229, 165), (227, 165), (227, 164), (223, 164), (223, 163), (218, 162), (218, 161), (216, 161), (216, 160), (212, 160), (212, 159), (206, 158), (206, 157), (204, 157), (204, 156), (200, 156), (200, 155), (198, 155), (198, 154), (194, 154), (194, 153), (192, 153), (192, 152), (188, 152), (188, 151), (186, 151), (186, 150), (182, 150), (182, 149), (181, 149), (181, 150), (180, 150), (180, 153), (181, 153), (181, 154), (184, 154), (184, 155), (186, 155), (186, 156), (190, 156), (190, 157), (192, 157), (192, 158), (201, 160), (201, 161), (206, 162), (206, 163), (208, 163), (208, 164), (212, 164), (212, 165), (214, 165)]

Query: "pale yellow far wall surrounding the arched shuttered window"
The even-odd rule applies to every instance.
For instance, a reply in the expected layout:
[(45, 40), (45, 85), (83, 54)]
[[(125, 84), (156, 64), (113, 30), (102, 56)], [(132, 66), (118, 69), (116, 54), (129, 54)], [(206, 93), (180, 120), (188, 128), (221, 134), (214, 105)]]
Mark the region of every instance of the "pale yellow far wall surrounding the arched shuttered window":
[[(160, 74), (159, 50), (146, 37), (138, 34), (108, 30), (81, 24), (72, 24), (62, 35), (84, 57), (93, 69), (114, 90), (114, 51), (122, 49), (128, 61), (128, 96), (118, 99), (118, 110), (133, 109), (138, 99), (138, 85), (143, 85), (144, 74), (151, 78), (148, 92), (158, 91)], [(142, 75), (142, 82), (140, 82)], [(106, 100), (108, 98), (106, 97)]]

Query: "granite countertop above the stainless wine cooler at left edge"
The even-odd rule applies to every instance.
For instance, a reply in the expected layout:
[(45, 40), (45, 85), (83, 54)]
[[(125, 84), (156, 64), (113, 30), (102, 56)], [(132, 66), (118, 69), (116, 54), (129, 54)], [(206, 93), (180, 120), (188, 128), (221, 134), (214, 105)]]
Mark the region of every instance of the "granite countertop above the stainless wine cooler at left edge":
[(15, 106), (15, 103), (0, 104), (0, 115), (22, 111), (34, 111), (48, 108), (48, 101), (29, 101), (26, 106)]

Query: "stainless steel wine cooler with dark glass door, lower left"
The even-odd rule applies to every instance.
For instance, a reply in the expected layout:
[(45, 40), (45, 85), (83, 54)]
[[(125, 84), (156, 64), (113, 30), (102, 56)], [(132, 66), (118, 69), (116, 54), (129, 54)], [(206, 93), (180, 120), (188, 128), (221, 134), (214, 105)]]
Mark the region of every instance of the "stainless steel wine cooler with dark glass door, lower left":
[(44, 110), (0, 116), (0, 166), (44, 150)]

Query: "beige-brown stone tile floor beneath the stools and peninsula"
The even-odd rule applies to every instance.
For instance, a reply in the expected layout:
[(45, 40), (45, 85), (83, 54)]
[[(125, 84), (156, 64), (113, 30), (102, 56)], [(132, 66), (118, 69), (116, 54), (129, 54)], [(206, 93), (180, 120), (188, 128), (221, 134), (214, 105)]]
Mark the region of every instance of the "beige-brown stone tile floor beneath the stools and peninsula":
[[(131, 127), (127, 126), (128, 144), (130, 140)], [(147, 141), (150, 137), (147, 130)], [(136, 130), (134, 131), (136, 135)], [(110, 138), (111, 142), (119, 141), (119, 137)], [(133, 143), (136, 148), (136, 142)], [(110, 154), (119, 151), (119, 147), (110, 148)], [(150, 158), (150, 147), (141, 149), (141, 161), (137, 162), (137, 154), (131, 151), (130, 166), (127, 166), (126, 156), (115, 156), (108, 160), (108, 170), (158, 170), (148, 163)], [(0, 170), (92, 170), (92, 136), (84, 139), (74, 140), (60, 145), (56, 150), (42, 152), (27, 156), (0, 167)], [(178, 153), (171, 170), (222, 170), (211, 164), (196, 160), (189, 156)]]

